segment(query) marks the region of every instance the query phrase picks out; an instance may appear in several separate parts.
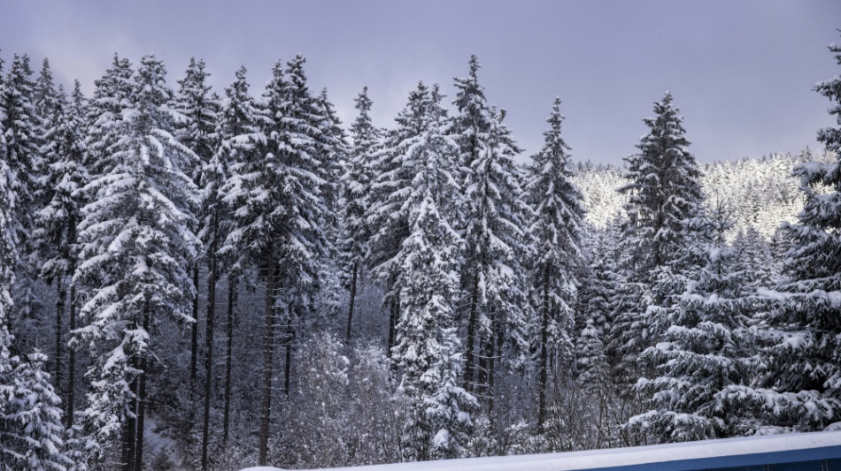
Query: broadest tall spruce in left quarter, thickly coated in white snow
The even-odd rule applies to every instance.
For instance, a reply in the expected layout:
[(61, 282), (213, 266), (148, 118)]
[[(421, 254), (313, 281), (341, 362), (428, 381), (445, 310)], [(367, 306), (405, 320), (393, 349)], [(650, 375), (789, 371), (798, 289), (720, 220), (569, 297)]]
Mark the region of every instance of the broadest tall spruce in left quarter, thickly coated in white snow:
[(164, 65), (143, 57), (122, 110), (120, 135), (83, 191), (90, 201), (79, 226), (81, 263), (74, 281), (91, 285), (81, 308), (86, 325), (73, 343), (90, 346), (86, 411), (101, 444), (120, 439), (120, 463), (143, 467), (149, 329), (162, 317), (195, 322), (194, 288), (185, 270), (200, 249), (194, 211), (197, 188), (187, 172), (197, 156), (173, 136)]

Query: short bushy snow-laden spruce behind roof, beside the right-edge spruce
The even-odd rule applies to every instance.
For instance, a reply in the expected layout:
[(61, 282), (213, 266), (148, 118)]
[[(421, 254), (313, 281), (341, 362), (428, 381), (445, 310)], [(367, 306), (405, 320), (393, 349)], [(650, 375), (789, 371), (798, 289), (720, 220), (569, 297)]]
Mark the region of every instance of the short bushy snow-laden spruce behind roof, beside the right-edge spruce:
[[(729, 223), (714, 213), (683, 249), (685, 291), (667, 310), (660, 341), (639, 361), (653, 373), (636, 389), (651, 394), (649, 411), (629, 420), (657, 443), (733, 437), (752, 431), (726, 405), (729, 387), (752, 381), (753, 336), (736, 253), (724, 240)], [(689, 268), (691, 267), (691, 268)], [(695, 268), (697, 267), (697, 268)]]

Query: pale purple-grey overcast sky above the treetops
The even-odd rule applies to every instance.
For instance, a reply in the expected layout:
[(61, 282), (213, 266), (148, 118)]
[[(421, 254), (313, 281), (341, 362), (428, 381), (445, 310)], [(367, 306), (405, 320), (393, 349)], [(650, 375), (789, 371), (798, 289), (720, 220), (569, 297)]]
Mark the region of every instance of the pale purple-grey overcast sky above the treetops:
[[(313, 91), (328, 87), (345, 123), (363, 86), (390, 126), (418, 80), (467, 74), (477, 54), (490, 103), (529, 153), (556, 95), (575, 160), (620, 163), (666, 90), (701, 161), (798, 152), (833, 125), (812, 91), (841, 66), (841, 1), (303, 1), (0, 0), (0, 49), (43, 57), (86, 92), (114, 52), (153, 53), (169, 79), (203, 57), (221, 93), (235, 69), (262, 92), (278, 58), (307, 57)], [(7, 62), (8, 65), (8, 62)]]

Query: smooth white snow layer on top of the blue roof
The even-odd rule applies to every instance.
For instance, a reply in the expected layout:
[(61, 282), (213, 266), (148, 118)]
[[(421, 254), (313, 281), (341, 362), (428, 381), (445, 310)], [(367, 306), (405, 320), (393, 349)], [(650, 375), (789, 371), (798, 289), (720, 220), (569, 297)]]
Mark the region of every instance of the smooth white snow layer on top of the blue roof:
[[(369, 467), (341, 467), (334, 468), (334, 471), (423, 471), (433, 469), (436, 471), (572, 471), (768, 452), (794, 452), (830, 446), (838, 447), (839, 452), (841, 452), (841, 431), (725, 438), (683, 444), (658, 444), (586, 452), (439, 460)], [(243, 469), (243, 471), (279, 470), (280, 468), (277, 467), (249, 467)]]

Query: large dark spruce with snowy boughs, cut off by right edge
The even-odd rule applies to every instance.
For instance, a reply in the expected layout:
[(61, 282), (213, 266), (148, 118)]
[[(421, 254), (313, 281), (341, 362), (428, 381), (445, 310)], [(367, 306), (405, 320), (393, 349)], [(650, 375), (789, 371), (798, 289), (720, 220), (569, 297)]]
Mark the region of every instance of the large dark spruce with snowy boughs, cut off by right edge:
[[(841, 65), (841, 47), (829, 50)], [(836, 159), (795, 167), (806, 203), (798, 224), (784, 224), (791, 248), (774, 291), (760, 290), (768, 311), (762, 327), (762, 364), (757, 388), (734, 388), (735, 406), (752, 411), (760, 432), (820, 430), (841, 416), (841, 78), (815, 90), (832, 102), (839, 127), (818, 132)], [(837, 427), (837, 425), (835, 425)]]

